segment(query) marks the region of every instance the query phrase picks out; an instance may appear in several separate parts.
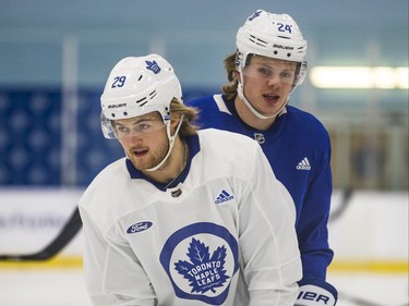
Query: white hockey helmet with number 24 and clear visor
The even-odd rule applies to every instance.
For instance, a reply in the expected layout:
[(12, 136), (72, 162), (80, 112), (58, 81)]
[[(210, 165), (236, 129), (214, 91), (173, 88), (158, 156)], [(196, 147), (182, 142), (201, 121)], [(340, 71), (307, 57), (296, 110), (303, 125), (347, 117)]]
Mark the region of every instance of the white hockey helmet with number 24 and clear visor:
[(293, 61), (299, 63), (296, 86), (306, 73), (306, 41), (296, 21), (288, 14), (274, 14), (263, 10), (249, 16), (236, 36), (236, 65), (241, 72), (249, 54)]

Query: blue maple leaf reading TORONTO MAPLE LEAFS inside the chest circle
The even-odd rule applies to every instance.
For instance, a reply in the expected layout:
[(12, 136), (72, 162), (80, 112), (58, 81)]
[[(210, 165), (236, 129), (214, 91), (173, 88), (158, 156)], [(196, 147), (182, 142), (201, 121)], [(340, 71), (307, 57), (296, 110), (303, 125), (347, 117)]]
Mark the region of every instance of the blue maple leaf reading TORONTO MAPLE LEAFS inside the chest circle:
[(217, 247), (210, 257), (208, 246), (200, 240), (192, 238), (187, 255), (190, 262), (179, 260), (175, 264), (175, 269), (189, 280), (192, 287), (191, 293), (207, 291), (216, 293), (215, 289), (224, 286), (224, 283), (230, 278), (226, 276), (226, 247), (224, 245)]

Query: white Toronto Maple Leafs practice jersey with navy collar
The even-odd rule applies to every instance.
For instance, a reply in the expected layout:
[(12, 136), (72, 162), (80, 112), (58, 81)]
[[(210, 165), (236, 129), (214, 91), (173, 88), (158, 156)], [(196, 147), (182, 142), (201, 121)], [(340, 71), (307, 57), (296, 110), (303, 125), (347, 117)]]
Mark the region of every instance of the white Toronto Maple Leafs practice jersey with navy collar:
[(80, 200), (84, 274), (96, 306), (293, 305), (294, 206), (258, 144), (203, 130), (160, 188), (120, 159)]

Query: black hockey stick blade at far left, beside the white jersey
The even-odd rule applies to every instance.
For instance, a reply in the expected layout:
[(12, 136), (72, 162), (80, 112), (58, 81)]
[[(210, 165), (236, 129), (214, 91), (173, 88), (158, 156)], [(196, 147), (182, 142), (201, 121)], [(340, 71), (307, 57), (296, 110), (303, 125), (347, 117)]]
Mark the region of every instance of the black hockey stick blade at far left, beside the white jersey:
[(0, 254), (1, 261), (40, 261), (47, 260), (59, 253), (76, 235), (82, 228), (80, 210), (76, 207), (70, 220), (44, 249), (33, 254)]

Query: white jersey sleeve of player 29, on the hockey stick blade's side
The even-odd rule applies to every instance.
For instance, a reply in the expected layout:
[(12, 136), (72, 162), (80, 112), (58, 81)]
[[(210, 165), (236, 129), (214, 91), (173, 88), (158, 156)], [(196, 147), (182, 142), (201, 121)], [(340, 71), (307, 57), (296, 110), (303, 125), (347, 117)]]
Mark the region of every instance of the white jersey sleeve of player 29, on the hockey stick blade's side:
[(84, 279), (93, 305), (156, 305), (151, 282), (130, 246), (103, 236), (104, 231), (81, 206), (80, 212), (85, 238)]

